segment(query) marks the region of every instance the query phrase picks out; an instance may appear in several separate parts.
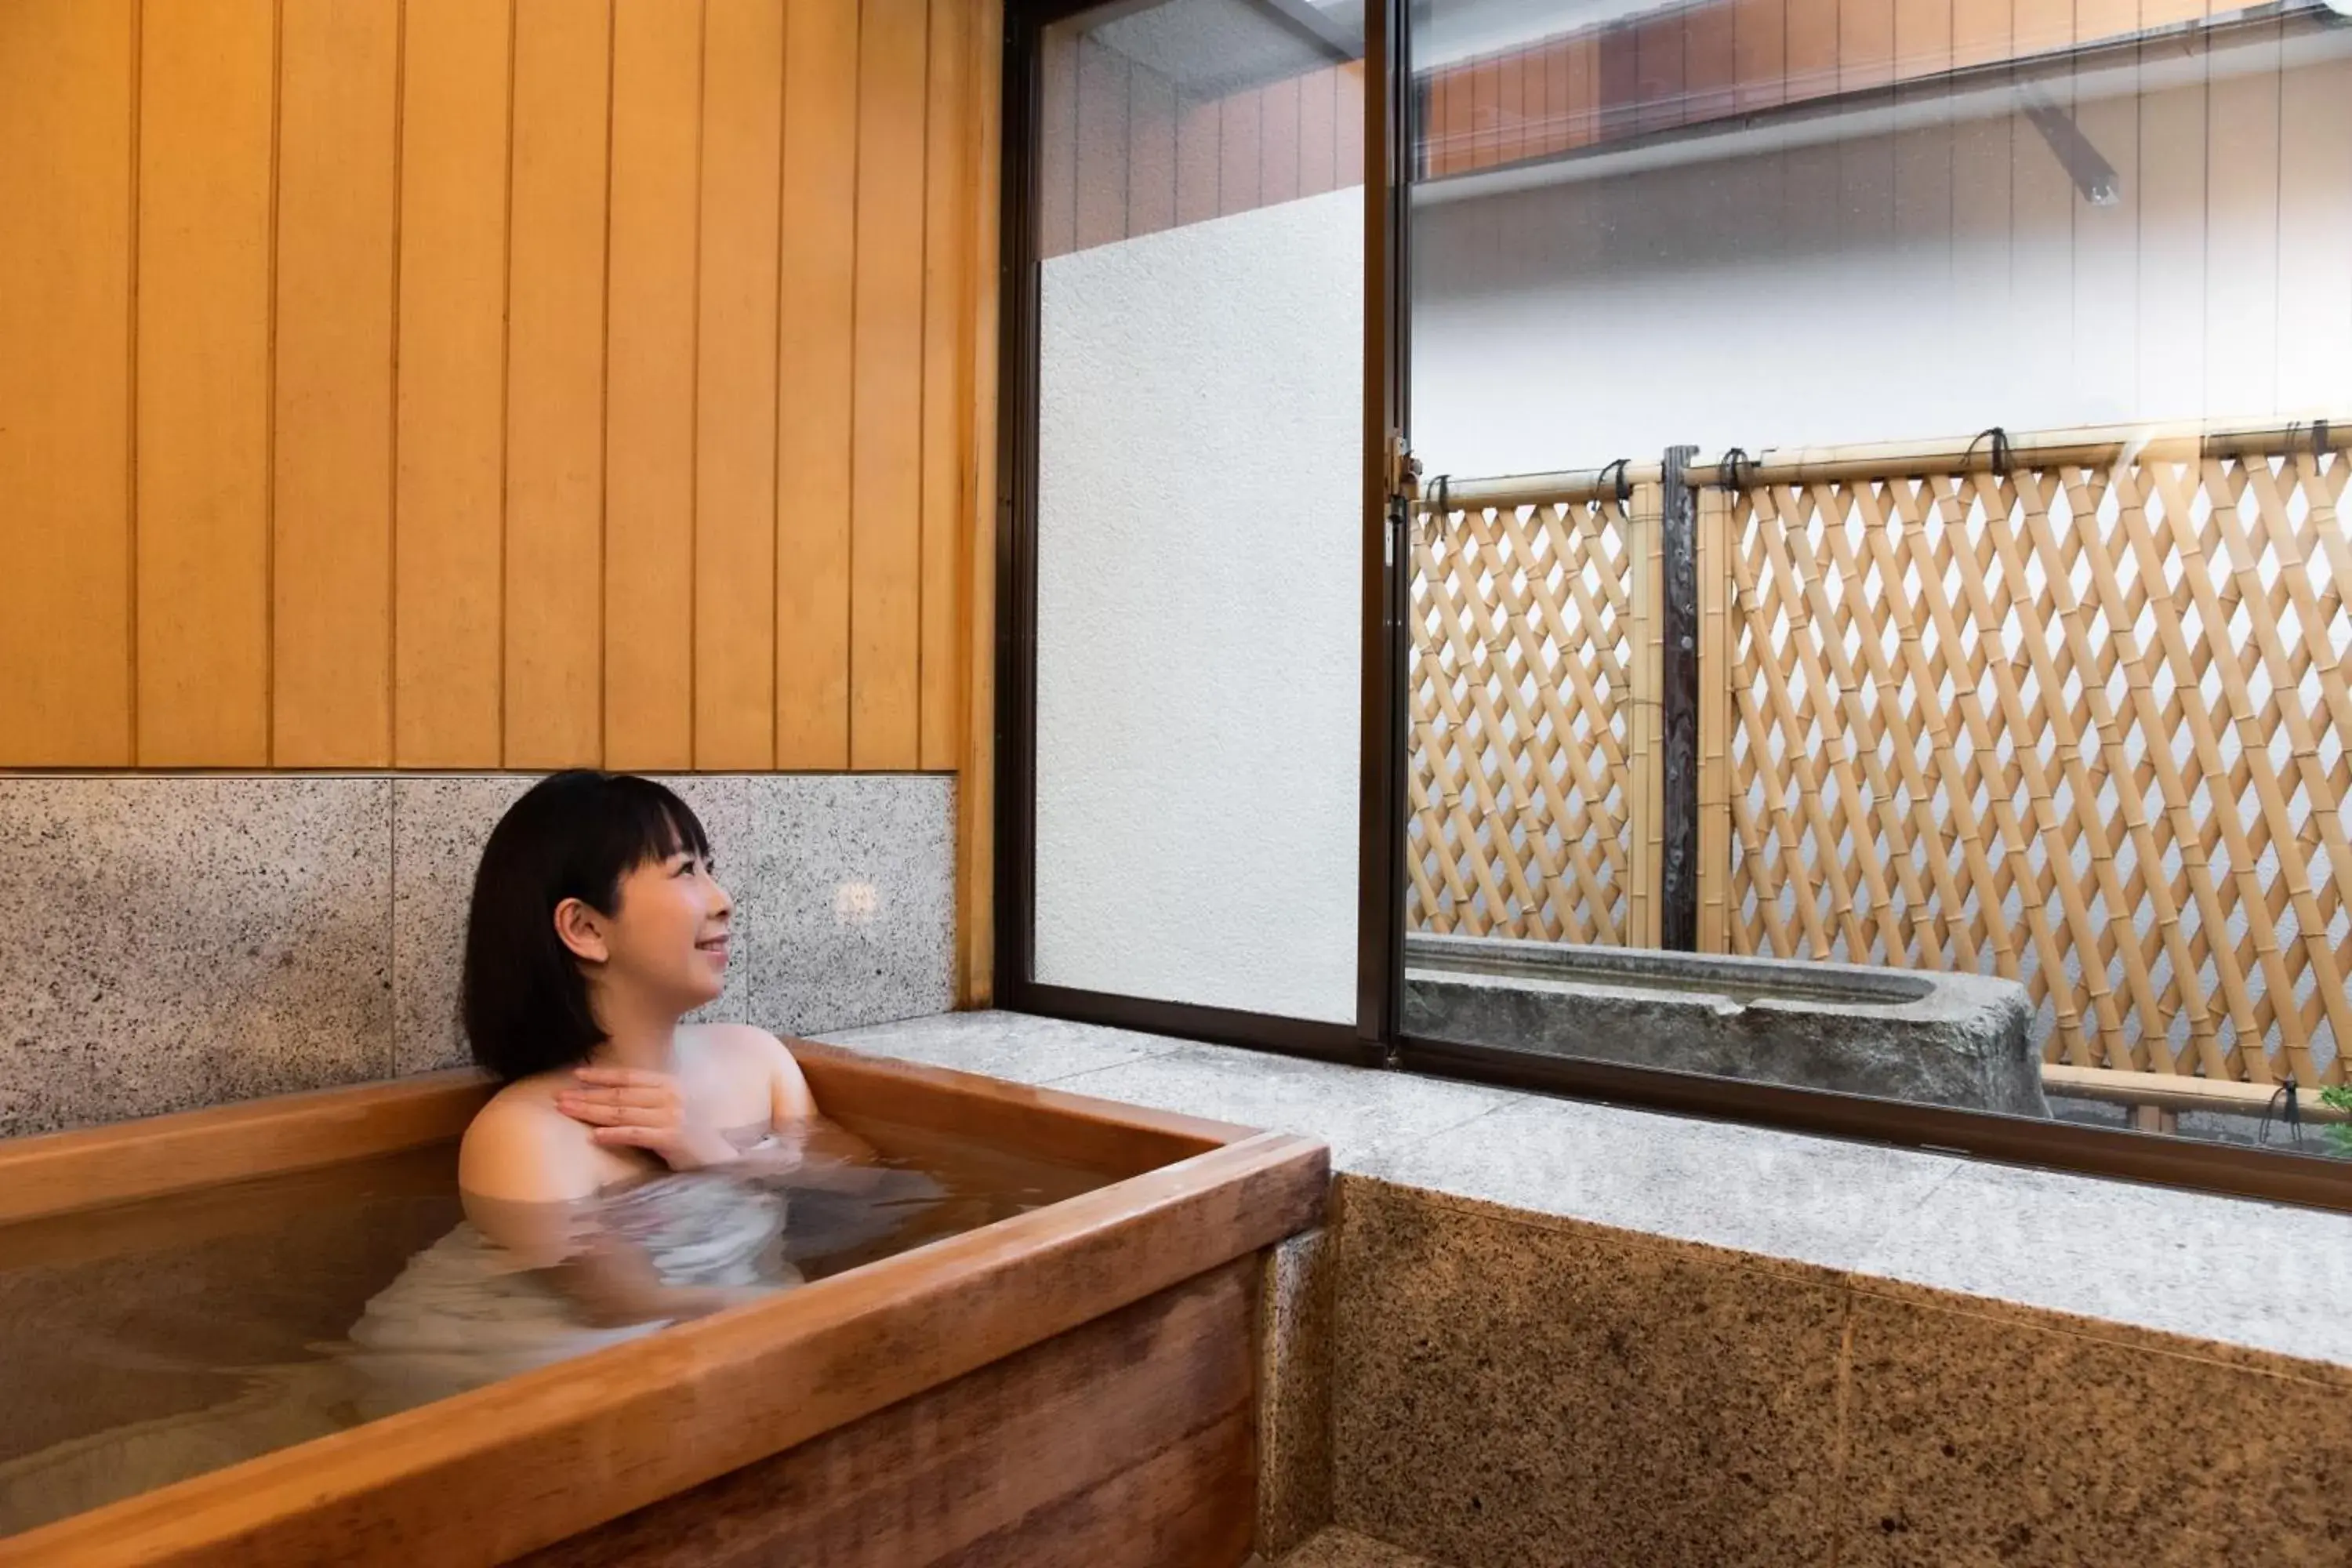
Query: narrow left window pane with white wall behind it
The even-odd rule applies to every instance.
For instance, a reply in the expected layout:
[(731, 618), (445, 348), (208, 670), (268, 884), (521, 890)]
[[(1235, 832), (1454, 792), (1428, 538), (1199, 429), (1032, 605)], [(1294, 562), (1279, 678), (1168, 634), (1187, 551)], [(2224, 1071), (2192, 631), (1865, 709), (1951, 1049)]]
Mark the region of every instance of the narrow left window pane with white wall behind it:
[(1171, 0), (1044, 40), (1044, 985), (1355, 1020), (1355, 28)]

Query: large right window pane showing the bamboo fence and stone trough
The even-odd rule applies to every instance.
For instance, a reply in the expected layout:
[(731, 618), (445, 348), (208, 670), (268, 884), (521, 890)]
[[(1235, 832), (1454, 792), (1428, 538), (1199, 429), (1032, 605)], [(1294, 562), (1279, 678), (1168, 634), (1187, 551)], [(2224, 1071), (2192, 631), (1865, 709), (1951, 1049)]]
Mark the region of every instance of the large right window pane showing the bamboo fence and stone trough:
[(1414, 71), (1406, 1027), (2345, 1150), (2352, 26), (1428, 0)]

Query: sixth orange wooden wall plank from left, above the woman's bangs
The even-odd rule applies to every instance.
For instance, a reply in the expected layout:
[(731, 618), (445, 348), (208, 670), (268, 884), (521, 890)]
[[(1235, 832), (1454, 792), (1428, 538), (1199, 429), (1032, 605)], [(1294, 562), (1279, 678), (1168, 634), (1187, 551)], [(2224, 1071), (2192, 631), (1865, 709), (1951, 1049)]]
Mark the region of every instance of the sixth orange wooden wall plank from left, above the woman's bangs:
[(694, 766), (703, 0), (614, 0), (604, 762)]

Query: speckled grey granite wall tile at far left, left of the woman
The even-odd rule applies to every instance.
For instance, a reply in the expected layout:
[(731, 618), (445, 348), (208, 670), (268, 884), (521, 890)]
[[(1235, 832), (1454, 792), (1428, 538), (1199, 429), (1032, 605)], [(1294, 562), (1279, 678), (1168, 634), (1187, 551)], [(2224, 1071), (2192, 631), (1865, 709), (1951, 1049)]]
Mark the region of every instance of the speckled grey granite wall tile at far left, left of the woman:
[(383, 1077), (381, 778), (0, 778), (0, 1135)]

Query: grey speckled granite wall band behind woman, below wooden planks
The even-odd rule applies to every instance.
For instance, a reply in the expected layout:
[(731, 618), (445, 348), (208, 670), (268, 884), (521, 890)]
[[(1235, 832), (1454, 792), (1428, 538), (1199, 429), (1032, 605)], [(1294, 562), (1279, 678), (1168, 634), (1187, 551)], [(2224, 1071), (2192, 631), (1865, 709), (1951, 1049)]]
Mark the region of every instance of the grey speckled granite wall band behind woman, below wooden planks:
[[(955, 783), (691, 776), (741, 940), (713, 1018), (955, 1001)], [(0, 1138), (466, 1060), (475, 856), (524, 776), (0, 776)]]

